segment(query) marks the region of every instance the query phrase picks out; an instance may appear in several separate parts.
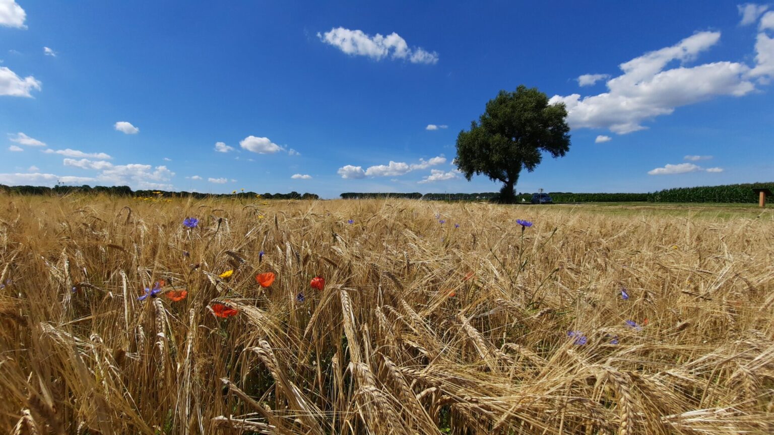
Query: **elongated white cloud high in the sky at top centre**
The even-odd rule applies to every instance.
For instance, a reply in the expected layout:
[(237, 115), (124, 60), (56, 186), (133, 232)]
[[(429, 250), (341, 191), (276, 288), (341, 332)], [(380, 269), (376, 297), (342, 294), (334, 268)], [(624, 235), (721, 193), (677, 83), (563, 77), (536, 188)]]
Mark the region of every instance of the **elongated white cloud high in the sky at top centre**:
[(323, 34), (317, 33), (317, 37), (351, 56), (365, 56), (373, 60), (382, 60), (389, 56), (392, 59), (408, 60), (411, 63), (438, 63), (438, 53), (434, 51), (430, 53), (421, 47), (409, 49), (406, 39), (394, 32), (387, 36), (378, 33), (370, 36), (361, 30), (336, 27)]

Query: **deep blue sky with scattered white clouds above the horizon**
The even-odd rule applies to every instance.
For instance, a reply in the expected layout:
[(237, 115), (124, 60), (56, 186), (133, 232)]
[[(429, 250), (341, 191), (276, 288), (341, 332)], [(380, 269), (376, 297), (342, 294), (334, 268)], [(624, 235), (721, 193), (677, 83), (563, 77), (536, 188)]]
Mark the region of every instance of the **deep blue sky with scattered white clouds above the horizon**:
[(0, 183), (497, 191), (454, 143), (519, 84), (572, 128), (519, 192), (774, 180), (774, 4), (228, 5), (0, 0)]

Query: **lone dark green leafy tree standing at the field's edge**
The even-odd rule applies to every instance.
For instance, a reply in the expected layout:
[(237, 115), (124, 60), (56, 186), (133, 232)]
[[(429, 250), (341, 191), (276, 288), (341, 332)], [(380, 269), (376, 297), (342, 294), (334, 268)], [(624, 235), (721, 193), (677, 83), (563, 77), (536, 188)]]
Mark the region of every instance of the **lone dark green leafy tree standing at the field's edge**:
[(522, 84), (515, 92), (500, 91), (478, 122), (471, 122), (471, 130), (457, 136), (454, 163), (468, 181), (474, 173), (502, 181), (500, 201), (512, 204), (522, 168), (535, 170), (543, 151), (557, 158), (570, 149), (565, 118), (564, 104), (548, 104), (546, 94), (536, 87)]

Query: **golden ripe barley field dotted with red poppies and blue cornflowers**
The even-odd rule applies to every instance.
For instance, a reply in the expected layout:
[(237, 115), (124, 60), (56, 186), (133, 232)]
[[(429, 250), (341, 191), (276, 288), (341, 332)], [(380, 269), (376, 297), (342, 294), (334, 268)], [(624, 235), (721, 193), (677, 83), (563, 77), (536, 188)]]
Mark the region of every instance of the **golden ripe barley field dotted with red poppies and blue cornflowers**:
[(0, 280), (2, 433), (774, 432), (769, 209), (2, 195)]

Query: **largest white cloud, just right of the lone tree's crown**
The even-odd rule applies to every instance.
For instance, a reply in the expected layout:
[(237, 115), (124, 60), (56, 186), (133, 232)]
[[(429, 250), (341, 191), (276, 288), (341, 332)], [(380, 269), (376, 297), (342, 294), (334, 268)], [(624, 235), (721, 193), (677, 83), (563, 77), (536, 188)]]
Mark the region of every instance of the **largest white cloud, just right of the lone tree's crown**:
[(643, 54), (620, 65), (623, 74), (607, 81), (608, 92), (580, 98), (554, 95), (550, 102), (567, 104), (571, 128), (608, 128), (626, 134), (646, 128), (642, 122), (670, 115), (675, 108), (720, 95), (739, 97), (755, 90), (742, 63), (714, 62), (696, 67), (664, 68), (682, 63), (714, 46), (719, 32), (700, 32), (674, 46)]

